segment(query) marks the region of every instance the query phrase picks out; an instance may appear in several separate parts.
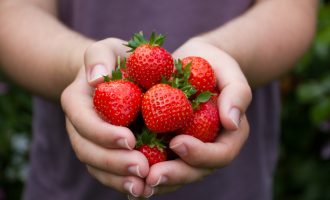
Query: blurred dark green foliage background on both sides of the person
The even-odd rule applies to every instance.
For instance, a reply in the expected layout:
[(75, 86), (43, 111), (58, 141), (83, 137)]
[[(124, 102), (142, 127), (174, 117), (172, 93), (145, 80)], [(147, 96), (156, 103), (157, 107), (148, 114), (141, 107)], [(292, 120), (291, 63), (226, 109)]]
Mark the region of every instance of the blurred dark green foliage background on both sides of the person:
[[(274, 199), (330, 200), (329, 0), (321, 1), (310, 50), (282, 80), (282, 103)], [(21, 197), (30, 138), (31, 97), (0, 72), (0, 200)]]

